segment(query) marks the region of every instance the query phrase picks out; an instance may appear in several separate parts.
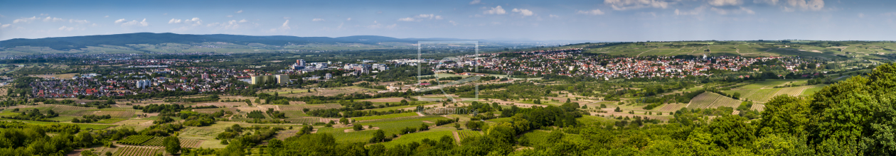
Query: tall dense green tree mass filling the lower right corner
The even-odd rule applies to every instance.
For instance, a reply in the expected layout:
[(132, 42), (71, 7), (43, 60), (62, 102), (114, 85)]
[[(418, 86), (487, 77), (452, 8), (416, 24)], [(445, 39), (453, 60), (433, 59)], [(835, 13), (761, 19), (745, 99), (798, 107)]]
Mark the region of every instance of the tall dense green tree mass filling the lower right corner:
[(867, 77), (852, 77), (813, 94), (809, 140), (823, 155), (896, 153), (896, 63)]

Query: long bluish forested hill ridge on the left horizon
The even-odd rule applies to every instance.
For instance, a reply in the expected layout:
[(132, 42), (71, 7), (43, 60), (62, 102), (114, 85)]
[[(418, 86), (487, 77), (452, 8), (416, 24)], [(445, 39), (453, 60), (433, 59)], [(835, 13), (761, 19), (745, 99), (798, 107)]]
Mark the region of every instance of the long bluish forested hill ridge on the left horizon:
[(264, 44), (264, 45), (301, 45), (309, 43), (336, 44), (359, 43), (376, 44), (382, 42), (417, 43), (426, 38), (395, 38), (380, 36), (351, 36), (351, 37), (292, 37), (292, 36), (241, 36), (241, 35), (188, 35), (174, 33), (133, 33), (116, 35), (98, 35), (83, 37), (47, 37), (37, 39), (15, 38), (0, 41), (0, 47), (9, 48), (15, 46), (47, 46), (56, 50), (70, 50), (98, 45), (122, 45), (127, 44), (191, 44), (205, 42), (227, 42), (237, 45)]

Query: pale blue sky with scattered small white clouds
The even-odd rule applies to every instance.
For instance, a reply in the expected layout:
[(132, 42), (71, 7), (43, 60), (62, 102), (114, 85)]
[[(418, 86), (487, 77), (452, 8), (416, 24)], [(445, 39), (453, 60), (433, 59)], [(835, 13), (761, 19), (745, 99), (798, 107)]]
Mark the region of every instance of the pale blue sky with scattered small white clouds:
[(590, 41), (896, 40), (896, 1), (0, 0), (0, 40), (135, 32)]

